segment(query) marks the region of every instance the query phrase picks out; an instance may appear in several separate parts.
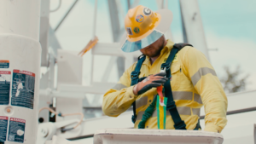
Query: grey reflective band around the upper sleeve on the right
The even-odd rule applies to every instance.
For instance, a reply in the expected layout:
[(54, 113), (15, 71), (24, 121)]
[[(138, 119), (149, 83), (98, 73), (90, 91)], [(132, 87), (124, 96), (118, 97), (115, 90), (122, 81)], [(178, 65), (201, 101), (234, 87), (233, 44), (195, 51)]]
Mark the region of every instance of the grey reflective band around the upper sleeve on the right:
[(209, 67), (201, 67), (195, 74), (191, 77), (192, 83), (197, 84), (197, 82), (201, 79), (202, 76), (211, 73), (213, 76), (217, 76), (216, 72)]

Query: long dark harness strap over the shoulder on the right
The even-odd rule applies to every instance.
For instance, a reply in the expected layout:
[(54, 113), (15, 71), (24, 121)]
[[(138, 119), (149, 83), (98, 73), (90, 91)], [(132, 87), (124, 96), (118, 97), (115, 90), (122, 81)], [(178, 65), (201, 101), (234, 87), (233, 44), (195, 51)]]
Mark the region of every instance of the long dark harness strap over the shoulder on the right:
[(164, 84), (165, 94), (166, 94), (166, 96), (168, 96), (166, 110), (168, 110), (172, 116), (175, 130), (186, 130), (186, 124), (180, 118), (180, 115), (177, 112), (177, 107), (175, 105), (175, 101), (173, 100), (172, 87), (171, 87), (171, 82), (170, 82), (170, 78), (172, 78), (171, 65), (172, 65), (172, 60), (174, 59), (177, 52), (180, 49), (183, 49), (183, 47), (185, 47), (185, 46), (192, 46), (192, 45), (190, 45), (188, 43), (174, 44), (173, 48), (171, 50), (171, 53), (166, 60), (166, 63), (163, 63), (161, 66), (161, 70), (164, 70), (166, 68), (166, 78), (168, 78), (168, 81)]

